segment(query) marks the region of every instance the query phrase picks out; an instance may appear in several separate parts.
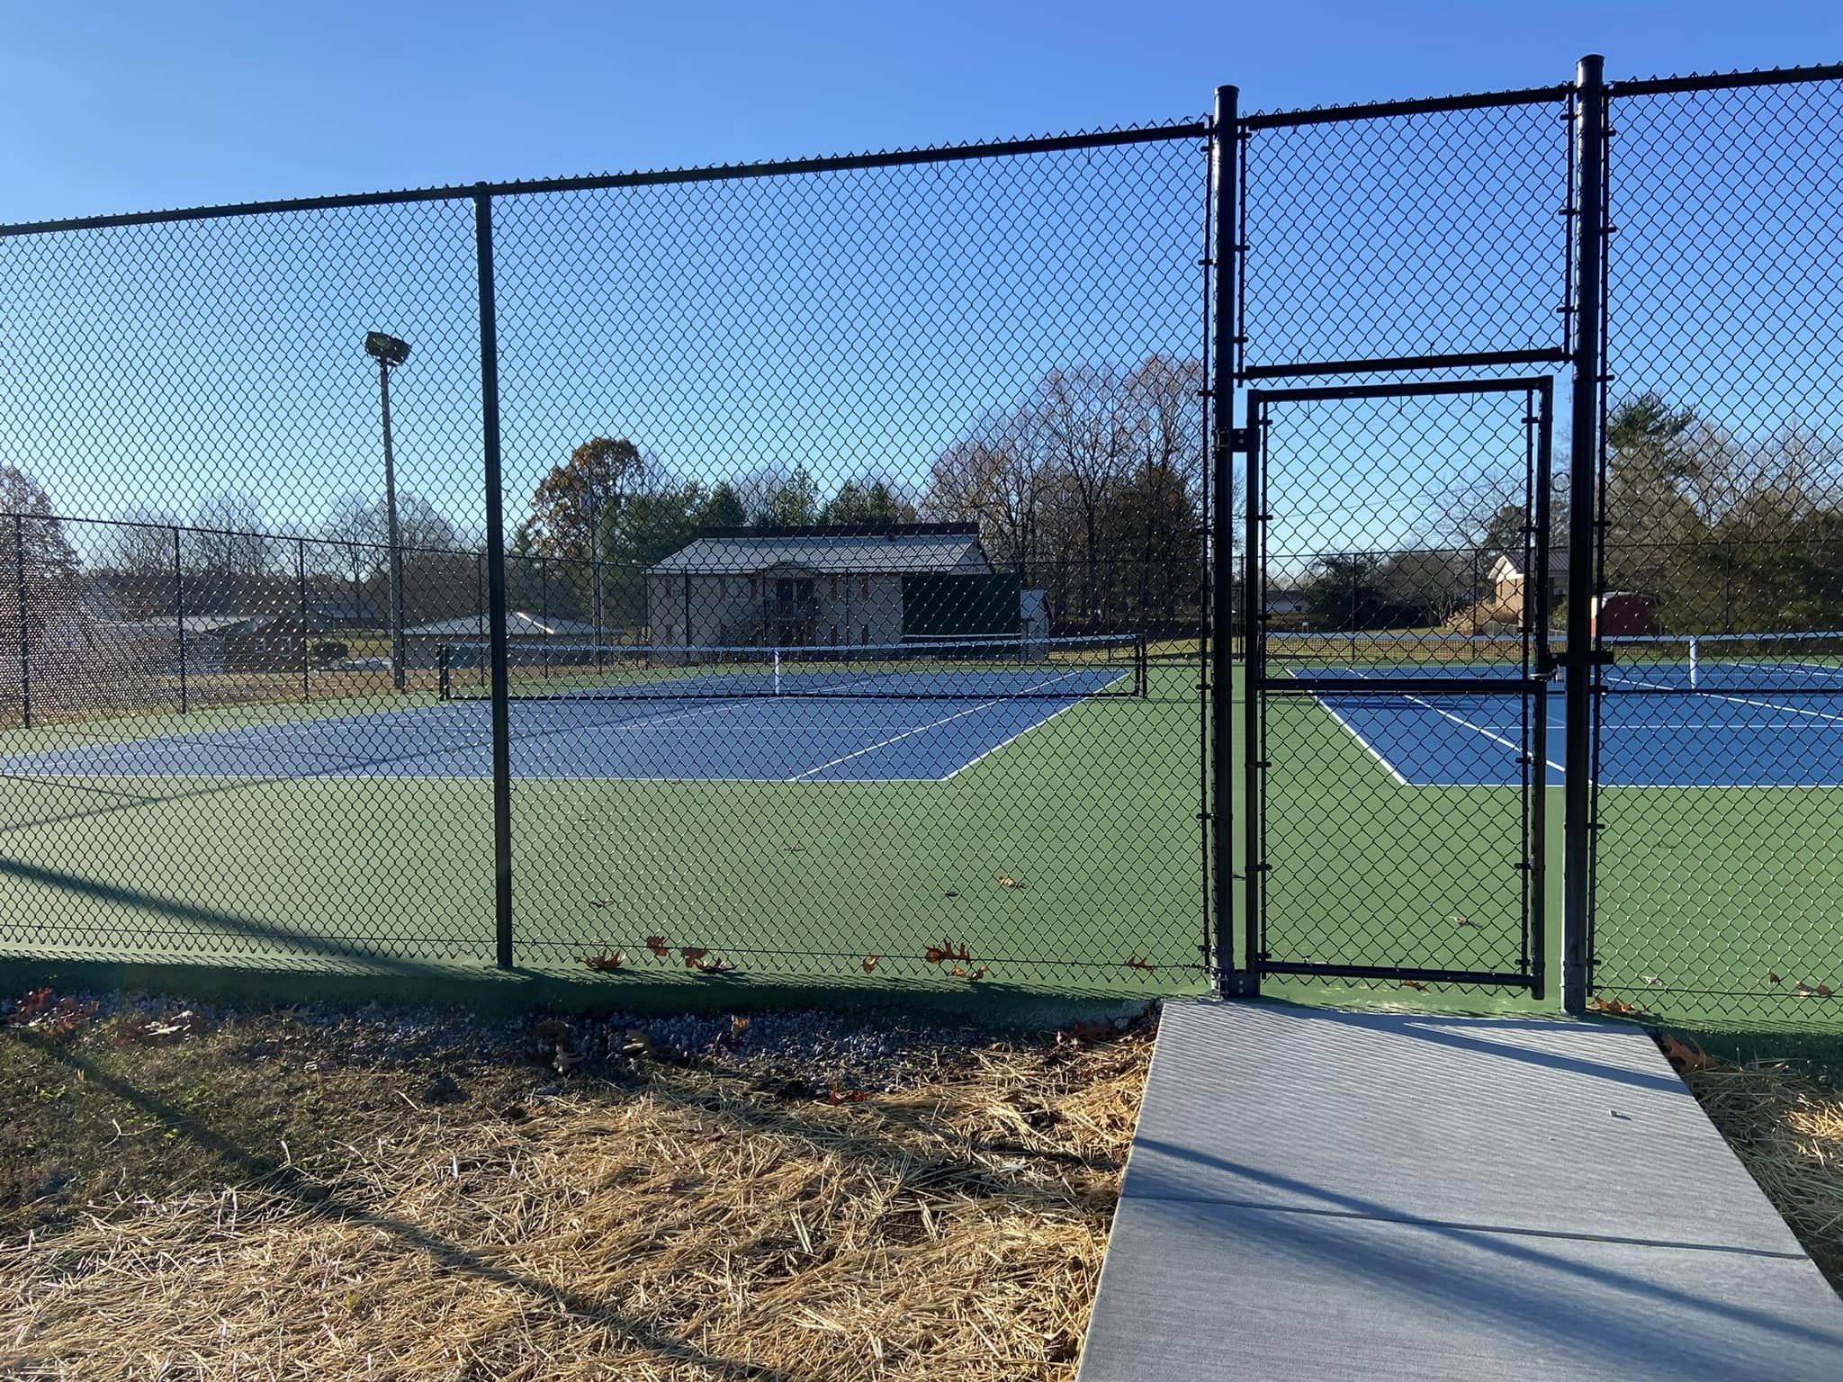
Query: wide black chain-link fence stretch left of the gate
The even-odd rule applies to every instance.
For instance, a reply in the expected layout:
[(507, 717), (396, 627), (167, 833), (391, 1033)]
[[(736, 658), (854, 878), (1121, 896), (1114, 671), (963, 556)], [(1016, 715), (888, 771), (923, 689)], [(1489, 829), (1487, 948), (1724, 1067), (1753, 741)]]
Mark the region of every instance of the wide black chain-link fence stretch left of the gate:
[(15, 953), (1202, 982), (1207, 129), (0, 232)]

